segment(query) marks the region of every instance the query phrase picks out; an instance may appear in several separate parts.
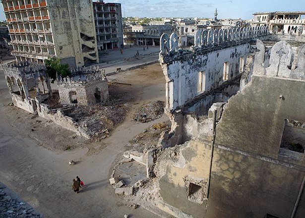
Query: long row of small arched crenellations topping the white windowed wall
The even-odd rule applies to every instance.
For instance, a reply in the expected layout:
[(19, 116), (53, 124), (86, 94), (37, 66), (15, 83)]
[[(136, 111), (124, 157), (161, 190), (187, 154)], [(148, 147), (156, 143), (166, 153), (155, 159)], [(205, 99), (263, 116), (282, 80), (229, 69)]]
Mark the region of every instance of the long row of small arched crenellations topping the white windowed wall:
[[(194, 46), (191, 49), (193, 51), (196, 49), (212, 51), (222, 47), (243, 44), (257, 37), (266, 35), (269, 35), (267, 26), (197, 30), (194, 38)], [(178, 35), (176, 33), (172, 33), (170, 37), (167, 34), (162, 34), (160, 38), (160, 50), (160, 57), (170, 56), (178, 52), (183, 53), (184, 51), (178, 47)]]

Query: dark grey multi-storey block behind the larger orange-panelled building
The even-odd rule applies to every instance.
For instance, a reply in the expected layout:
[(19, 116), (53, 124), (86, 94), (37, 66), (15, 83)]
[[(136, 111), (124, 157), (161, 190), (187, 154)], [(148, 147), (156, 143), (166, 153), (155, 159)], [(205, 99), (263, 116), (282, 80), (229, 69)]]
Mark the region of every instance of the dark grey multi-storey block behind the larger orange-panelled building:
[(97, 45), (99, 50), (123, 47), (122, 10), (120, 3), (93, 2)]

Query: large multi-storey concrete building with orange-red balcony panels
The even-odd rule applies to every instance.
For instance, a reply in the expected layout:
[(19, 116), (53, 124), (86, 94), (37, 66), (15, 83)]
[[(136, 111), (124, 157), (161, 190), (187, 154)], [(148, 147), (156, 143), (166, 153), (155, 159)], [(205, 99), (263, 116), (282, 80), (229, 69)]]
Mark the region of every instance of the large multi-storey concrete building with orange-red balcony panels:
[(88, 0), (1, 0), (17, 61), (57, 56), (71, 67), (98, 63)]

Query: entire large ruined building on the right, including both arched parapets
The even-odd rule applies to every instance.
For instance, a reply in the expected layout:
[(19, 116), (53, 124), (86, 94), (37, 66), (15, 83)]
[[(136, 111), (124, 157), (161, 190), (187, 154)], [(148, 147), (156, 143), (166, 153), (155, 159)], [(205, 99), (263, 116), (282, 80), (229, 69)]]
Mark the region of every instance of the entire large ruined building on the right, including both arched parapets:
[(160, 41), (172, 128), (154, 205), (179, 218), (304, 218), (305, 45), (266, 26), (198, 31), (190, 50), (177, 41)]

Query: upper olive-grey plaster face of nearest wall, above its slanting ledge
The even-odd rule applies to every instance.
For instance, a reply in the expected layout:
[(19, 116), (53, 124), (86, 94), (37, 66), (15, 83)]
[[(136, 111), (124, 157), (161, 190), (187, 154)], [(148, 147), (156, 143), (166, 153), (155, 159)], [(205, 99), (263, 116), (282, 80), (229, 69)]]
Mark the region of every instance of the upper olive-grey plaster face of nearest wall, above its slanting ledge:
[[(285, 119), (305, 121), (301, 90), (302, 80), (252, 76), (243, 92), (229, 100), (217, 125), (216, 143), (278, 159)], [(305, 166), (304, 158), (298, 164)]]

